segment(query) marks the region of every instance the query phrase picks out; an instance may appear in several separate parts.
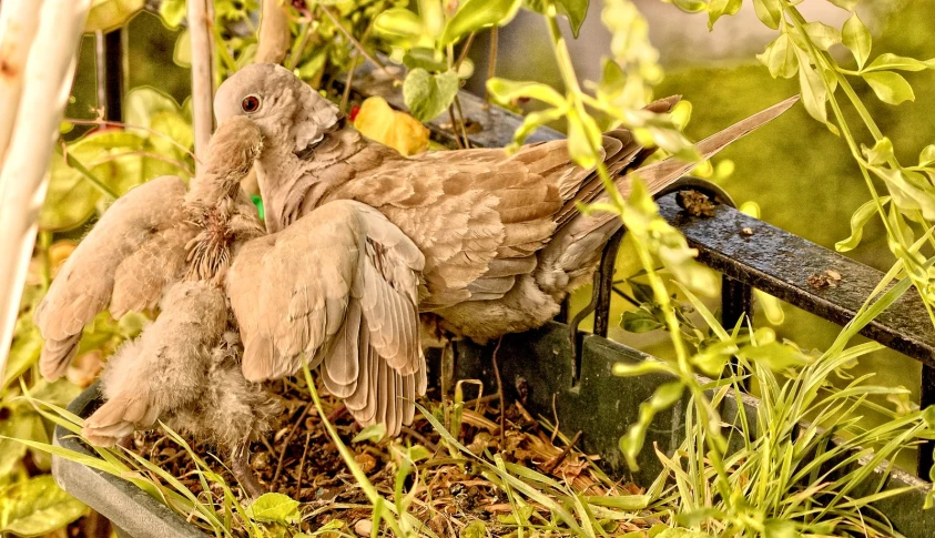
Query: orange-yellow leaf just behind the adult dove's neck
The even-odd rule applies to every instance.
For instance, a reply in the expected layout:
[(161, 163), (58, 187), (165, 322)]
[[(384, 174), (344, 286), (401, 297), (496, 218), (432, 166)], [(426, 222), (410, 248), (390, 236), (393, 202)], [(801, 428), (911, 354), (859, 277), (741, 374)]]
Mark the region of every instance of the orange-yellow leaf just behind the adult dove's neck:
[(428, 129), (411, 115), (393, 110), (383, 98), (368, 98), (360, 105), (354, 126), (364, 136), (382, 142), (405, 156), (428, 148)]

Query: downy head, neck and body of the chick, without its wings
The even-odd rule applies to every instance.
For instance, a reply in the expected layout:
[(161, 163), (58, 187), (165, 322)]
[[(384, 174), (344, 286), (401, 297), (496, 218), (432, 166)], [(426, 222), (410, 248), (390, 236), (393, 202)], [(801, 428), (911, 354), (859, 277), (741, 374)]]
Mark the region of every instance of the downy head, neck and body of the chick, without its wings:
[(277, 405), (241, 372), (242, 346), (223, 276), (238, 244), (263, 234), (240, 190), (262, 148), (251, 121), (225, 123), (211, 140), (205, 172), (185, 196), (192, 238), (184, 277), (171, 284), (159, 317), (111, 357), (102, 375), (106, 403), (85, 420), (85, 438), (113, 446), (156, 420), (230, 450), (232, 470), (253, 496), (246, 447), (270, 427)]

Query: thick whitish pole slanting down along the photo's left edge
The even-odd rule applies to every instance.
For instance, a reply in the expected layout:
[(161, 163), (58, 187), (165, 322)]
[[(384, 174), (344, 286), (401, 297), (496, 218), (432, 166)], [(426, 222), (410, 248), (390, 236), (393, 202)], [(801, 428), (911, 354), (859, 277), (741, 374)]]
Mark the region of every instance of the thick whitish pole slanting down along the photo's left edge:
[(49, 161), (68, 104), (91, 0), (2, 2), (4, 11), (17, 8), (38, 11), (39, 26), (29, 48), (13, 133), (0, 171), (0, 375), (10, 353), (39, 211), (49, 186)]

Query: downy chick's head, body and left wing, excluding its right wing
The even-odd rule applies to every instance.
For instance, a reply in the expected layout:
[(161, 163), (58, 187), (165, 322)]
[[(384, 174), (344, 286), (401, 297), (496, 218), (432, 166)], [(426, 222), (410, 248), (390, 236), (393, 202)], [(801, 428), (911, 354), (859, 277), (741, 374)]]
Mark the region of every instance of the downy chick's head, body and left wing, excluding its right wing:
[(231, 450), (232, 470), (254, 497), (262, 487), (245, 448), (268, 429), (277, 404), (243, 376), (221, 286), (233, 250), (265, 233), (240, 189), (261, 146), (248, 119), (226, 123), (212, 138), (205, 173), (191, 191), (177, 177), (160, 177), (118, 200), (65, 262), (35, 316), (48, 338), (41, 370), (55, 377), (74, 355), (83, 326), (104, 307), (119, 317), (159, 302), (159, 317), (108, 362), (106, 402), (82, 434), (113, 446), (163, 420)]

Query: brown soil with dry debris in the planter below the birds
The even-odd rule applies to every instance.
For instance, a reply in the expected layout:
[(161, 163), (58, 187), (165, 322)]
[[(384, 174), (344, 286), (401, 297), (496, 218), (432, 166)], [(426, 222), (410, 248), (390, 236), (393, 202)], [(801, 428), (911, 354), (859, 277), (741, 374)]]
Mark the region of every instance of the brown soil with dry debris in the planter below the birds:
[[(276, 427), (252, 446), (251, 466), (257, 478), (270, 491), (286, 494), (303, 503), (304, 531), (315, 530), (335, 518), (344, 522), (347, 532), (366, 528), (373, 515), (370, 505), (331, 441), (308, 393), (292, 382), (278, 385), (284, 410)], [(430, 392), (429, 396), (420, 404), (444, 415), (438, 393)], [(488, 536), (506, 536), (516, 530), (508, 520), (511, 507), (504, 490), (481, 476), (479, 466), (465, 455), (449, 451), (439, 434), (421, 415), (417, 414), (415, 423), (404, 428), (396, 439), (376, 444), (369, 440), (352, 443), (360, 427), (342, 412), (337, 398), (324, 395), (323, 404), (326, 413), (333, 415), (333, 424), (342, 439), (355, 453), (358, 465), (390, 503), (399, 450), (405, 451), (405, 447), (414, 445), (428, 448), (433, 455), (418, 464), (419, 477), (409, 512), (425, 521), (438, 536), (459, 536), (476, 521), (484, 524)], [(448, 402), (449, 415), (453, 406)], [(505, 433), (500, 436), (496, 396), (466, 402), (459, 440), (474, 454), (482, 455), (485, 450), (490, 455), (499, 454), (505, 461), (549, 475), (583, 495), (642, 493), (632, 484), (611, 483), (594, 465), (597, 457), (568, 447), (567, 438), (552, 438), (551, 430), (532, 419), (521, 404), (510, 404), (504, 418)], [(228, 463), (215, 457), (212, 447), (192, 446), (228, 485), (236, 486), (236, 479), (225, 467)], [(210, 491), (204, 491), (189, 453), (164, 433), (136, 433), (133, 449), (179, 477), (200, 498), (204, 499), (206, 494), (220, 505), (222, 488), (214, 485)], [(404, 490), (411, 491), (413, 483), (414, 475), (410, 474)], [(234, 490), (243, 496), (238, 487)], [(536, 508), (546, 520), (550, 519), (543, 507)], [(620, 536), (646, 528), (647, 521), (636, 520), (609, 522), (604, 530), (609, 536)]]

